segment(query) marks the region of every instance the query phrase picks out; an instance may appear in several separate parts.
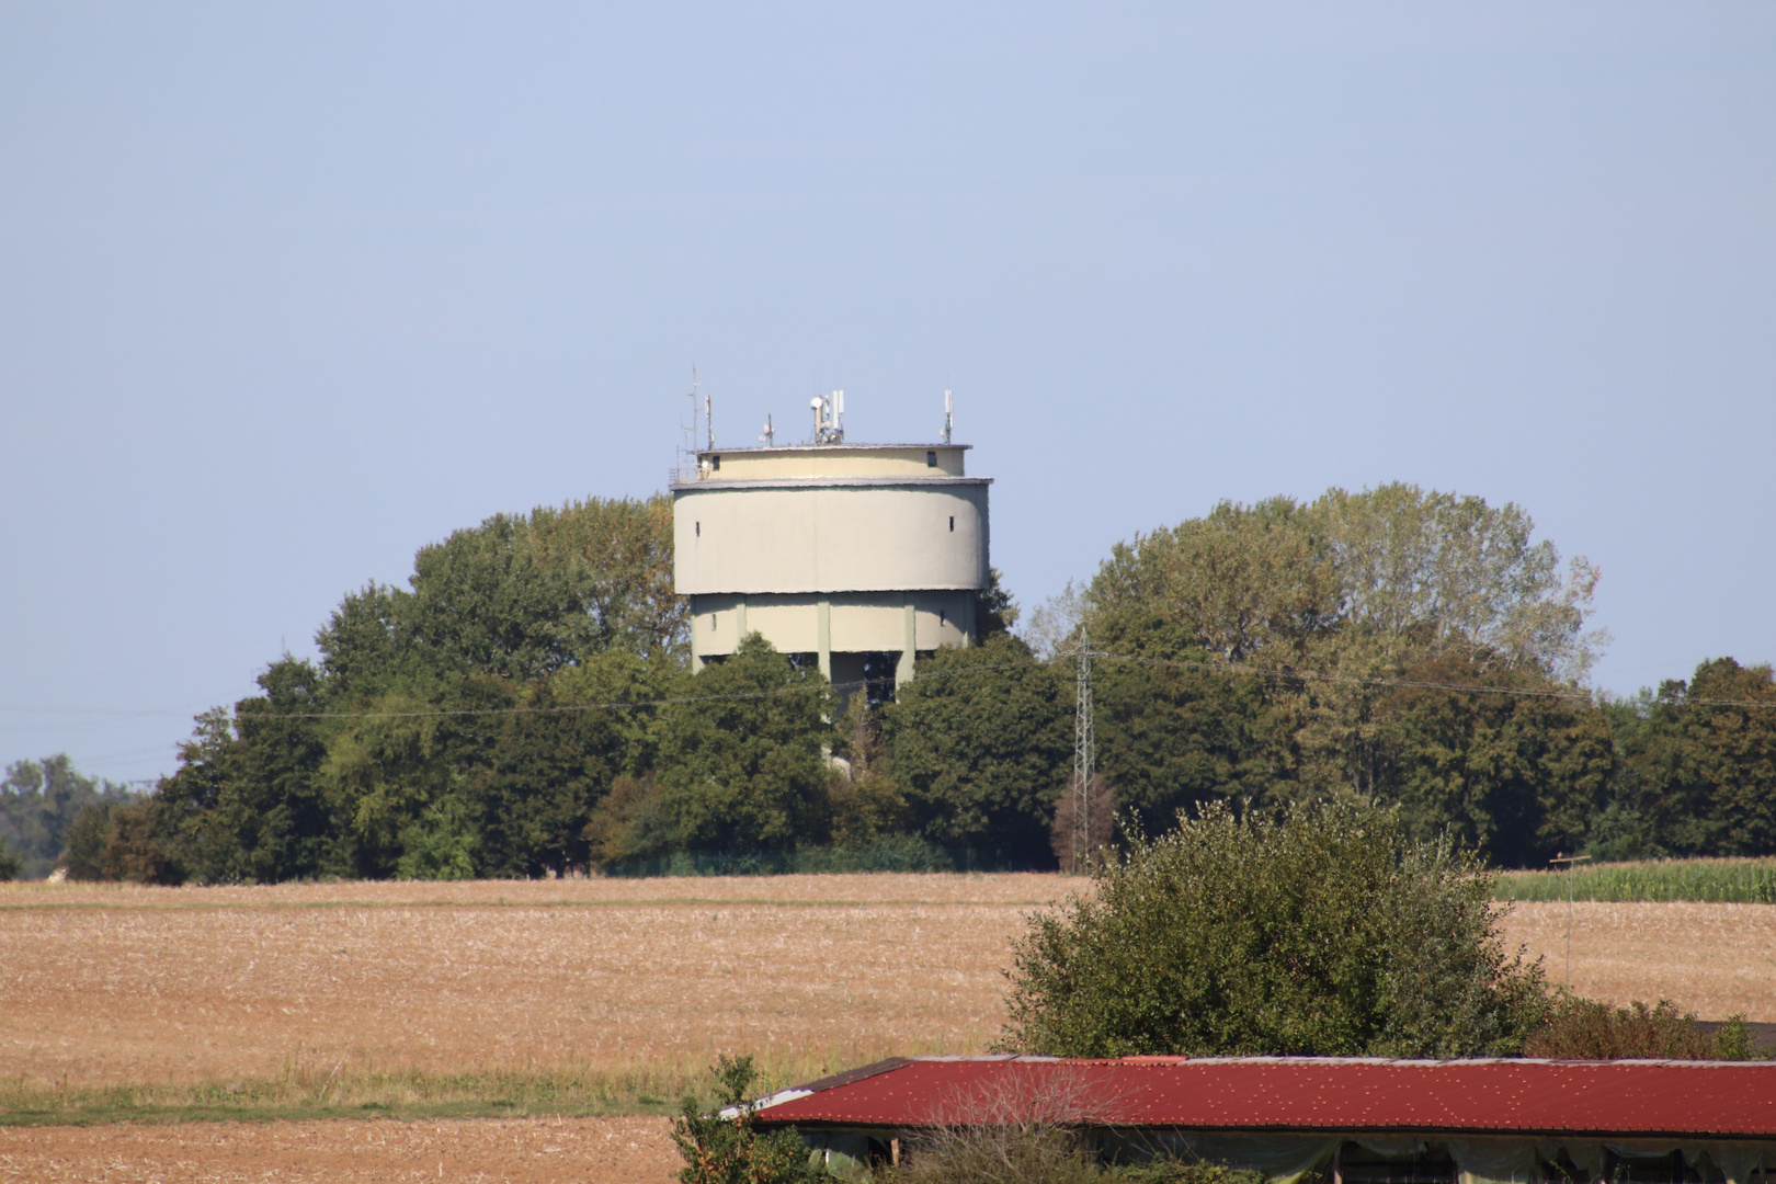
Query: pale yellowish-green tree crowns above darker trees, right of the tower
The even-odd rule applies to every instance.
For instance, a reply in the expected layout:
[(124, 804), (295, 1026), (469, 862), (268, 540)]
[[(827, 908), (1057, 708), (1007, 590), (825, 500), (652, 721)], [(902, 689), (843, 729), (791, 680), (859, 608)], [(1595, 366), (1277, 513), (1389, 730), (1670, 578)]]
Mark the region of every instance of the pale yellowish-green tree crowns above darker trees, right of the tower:
[(1355, 634), (1577, 678), (1606, 641), (1582, 632), (1598, 573), (1577, 557), (1561, 575), (1559, 550), (1533, 533), (1515, 504), (1415, 485), (1222, 502), (1117, 543), (1089, 600), (1160, 612), (1227, 662), (1295, 662), (1314, 639)]

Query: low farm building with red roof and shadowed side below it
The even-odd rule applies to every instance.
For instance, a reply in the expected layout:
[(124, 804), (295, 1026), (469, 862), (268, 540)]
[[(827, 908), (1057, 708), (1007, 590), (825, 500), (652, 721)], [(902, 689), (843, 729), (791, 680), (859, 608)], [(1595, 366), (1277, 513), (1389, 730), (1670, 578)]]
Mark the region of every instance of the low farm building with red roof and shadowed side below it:
[(895, 1058), (764, 1099), (842, 1179), (945, 1127), (1058, 1124), (1106, 1161), (1273, 1184), (1765, 1184), (1776, 1063)]

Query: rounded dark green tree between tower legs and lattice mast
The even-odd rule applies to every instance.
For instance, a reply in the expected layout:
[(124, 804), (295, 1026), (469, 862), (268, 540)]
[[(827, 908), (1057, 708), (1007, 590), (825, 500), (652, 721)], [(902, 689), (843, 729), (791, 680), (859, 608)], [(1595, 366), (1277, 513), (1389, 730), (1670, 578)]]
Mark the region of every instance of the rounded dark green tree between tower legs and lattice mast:
[(920, 834), (1043, 866), (1073, 760), (1073, 685), (1016, 637), (940, 650), (883, 712), (888, 769)]

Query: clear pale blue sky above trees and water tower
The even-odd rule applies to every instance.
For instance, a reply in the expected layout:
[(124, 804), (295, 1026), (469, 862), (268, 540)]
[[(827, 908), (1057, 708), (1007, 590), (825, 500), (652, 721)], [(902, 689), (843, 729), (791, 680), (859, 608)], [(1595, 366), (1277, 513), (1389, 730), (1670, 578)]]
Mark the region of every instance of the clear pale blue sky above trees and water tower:
[[(368, 579), (718, 442), (957, 438), (1025, 604), (1391, 479), (1776, 659), (1776, 5), (0, 7), (0, 760), (169, 770)], [(780, 437), (781, 438), (781, 437)]]

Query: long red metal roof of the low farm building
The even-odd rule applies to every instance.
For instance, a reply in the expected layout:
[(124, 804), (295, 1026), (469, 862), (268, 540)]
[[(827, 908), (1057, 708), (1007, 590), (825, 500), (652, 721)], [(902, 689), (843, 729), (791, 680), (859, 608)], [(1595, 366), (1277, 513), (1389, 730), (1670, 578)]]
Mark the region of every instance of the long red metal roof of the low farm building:
[(1776, 1138), (1776, 1063), (916, 1058), (758, 1120), (924, 1127), (1032, 1109), (1103, 1127)]

